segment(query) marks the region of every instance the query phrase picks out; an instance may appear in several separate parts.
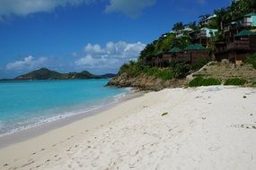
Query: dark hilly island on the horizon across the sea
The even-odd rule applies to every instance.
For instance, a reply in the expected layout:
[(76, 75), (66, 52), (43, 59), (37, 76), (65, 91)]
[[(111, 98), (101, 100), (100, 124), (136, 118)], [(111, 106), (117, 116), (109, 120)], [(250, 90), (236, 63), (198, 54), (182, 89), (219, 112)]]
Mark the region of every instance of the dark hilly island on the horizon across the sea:
[(39, 70), (22, 74), (18, 77), (15, 77), (14, 79), (4, 79), (0, 81), (108, 79), (115, 76), (116, 74), (113, 73), (94, 75), (88, 71), (60, 73), (56, 71), (51, 71), (47, 68), (40, 68)]

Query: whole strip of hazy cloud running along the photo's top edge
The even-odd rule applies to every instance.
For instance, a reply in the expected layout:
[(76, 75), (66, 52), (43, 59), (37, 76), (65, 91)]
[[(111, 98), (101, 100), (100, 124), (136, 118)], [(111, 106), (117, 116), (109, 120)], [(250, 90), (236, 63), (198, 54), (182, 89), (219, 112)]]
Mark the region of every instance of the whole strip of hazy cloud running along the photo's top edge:
[(52, 12), (66, 5), (92, 4), (108, 1), (106, 13), (124, 13), (137, 17), (141, 11), (154, 4), (155, 0), (0, 0), (0, 21), (13, 15), (27, 16), (31, 13)]

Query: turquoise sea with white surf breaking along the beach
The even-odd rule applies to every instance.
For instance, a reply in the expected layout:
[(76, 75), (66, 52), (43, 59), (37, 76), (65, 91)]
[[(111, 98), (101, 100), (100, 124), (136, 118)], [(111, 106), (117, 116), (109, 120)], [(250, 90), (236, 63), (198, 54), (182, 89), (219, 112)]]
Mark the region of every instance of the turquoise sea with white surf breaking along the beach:
[(128, 89), (109, 80), (0, 82), (0, 136), (117, 102)]

